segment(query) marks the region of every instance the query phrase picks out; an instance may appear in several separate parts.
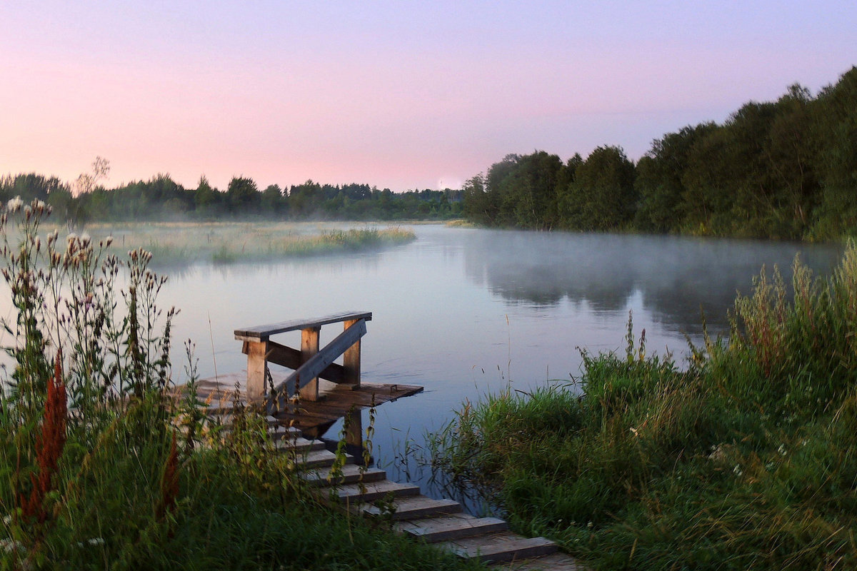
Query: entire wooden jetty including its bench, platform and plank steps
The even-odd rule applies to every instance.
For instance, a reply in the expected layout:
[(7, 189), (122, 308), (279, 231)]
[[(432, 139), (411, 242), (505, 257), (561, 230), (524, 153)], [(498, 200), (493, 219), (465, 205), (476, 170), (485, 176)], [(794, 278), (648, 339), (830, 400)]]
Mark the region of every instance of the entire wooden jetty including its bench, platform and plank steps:
[[(354, 513), (391, 518), (400, 533), (498, 568), (583, 571), (549, 539), (524, 538), (509, 532), (503, 520), (464, 514), (454, 500), (425, 497), (417, 485), (399, 484), (387, 479), (383, 470), (357, 466), (363, 450), (360, 411), (423, 390), (407, 384), (361, 382), (361, 338), (371, 318), (370, 312), (345, 312), (238, 329), (235, 336), (247, 355), (247, 372), (201, 380), (198, 396), (213, 415), (228, 416), (237, 403), (265, 407), (272, 437), (303, 468), (303, 478), (333, 488), (333, 497)], [(342, 333), (320, 348), (321, 327), (337, 323), (344, 324)], [(271, 340), (295, 330), (301, 331), (300, 349)], [(342, 365), (334, 362), (340, 356)], [(294, 372), (272, 371), (269, 364)], [(339, 478), (332, 479), (336, 455), (319, 438), (343, 418), (350, 454)]]

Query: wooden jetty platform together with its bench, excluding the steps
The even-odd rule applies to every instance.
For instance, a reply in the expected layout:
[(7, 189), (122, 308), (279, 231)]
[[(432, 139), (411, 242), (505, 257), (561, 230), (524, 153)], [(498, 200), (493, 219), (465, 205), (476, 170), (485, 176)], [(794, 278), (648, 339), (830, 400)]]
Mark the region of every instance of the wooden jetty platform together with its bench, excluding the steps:
[[(363, 443), (360, 420), (363, 408), (423, 390), (407, 384), (361, 383), (360, 343), (366, 334), (366, 322), (371, 319), (371, 312), (345, 312), (237, 329), (235, 338), (243, 342), (242, 350), (247, 355), (246, 379), (237, 375), (206, 379), (200, 382), (200, 396), (213, 396), (225, 402), (230, 398), (224, 393), (212, 393), (232, 391), (236, 384), (245, 385), (240, 400), (264, 405), (267, 413), (282, 424), (295, 426), (310, 437), (321, 436), (336, 420), (347, 417), (345, 442), (359, 447)], [(342, 333), (320, 348), (321, 326), (337, 323), (344, 324)], [(271, 339), (298, 330), (300, 349)], [(340, 356), (342, 365), (334, 362)], [(272, 363), (294, 371), (287, 375), (272, 371), (269, 366)]]

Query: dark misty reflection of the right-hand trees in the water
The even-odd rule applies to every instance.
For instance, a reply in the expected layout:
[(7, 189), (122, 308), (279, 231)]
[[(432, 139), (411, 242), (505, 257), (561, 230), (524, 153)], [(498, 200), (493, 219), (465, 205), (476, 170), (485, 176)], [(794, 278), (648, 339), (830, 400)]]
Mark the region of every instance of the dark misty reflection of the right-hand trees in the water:
[(794, 254), (827, 274), (841, 247), (676, 236), (482, 231), (464, 247), (467, 277), (508, 303), (585, 302), (596, 312), (624, 309), (639, 291), (669, 329), (726, 330), (735, 293), (748, 294), (762, 265), (791, 278)]

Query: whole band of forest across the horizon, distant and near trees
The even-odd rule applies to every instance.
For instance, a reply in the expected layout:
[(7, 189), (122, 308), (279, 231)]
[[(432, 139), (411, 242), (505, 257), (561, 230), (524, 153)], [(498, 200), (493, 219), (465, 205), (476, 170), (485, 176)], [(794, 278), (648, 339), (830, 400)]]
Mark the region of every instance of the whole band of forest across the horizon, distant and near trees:
[(0, 177), (0, 199), (53, 205), (88, 221), (443, 220), (491, 227), (649, 232), (830, 241), (857, 235), (857, 67), (815, 96), (795, 84), (774, 102), (751, 101), (722, 124), (664, 134), (636, 163), (598, 146), (565, 163), (510, 154), (461, 190), (394, 193), (368, 184), (306, 181), (264, 189), (236, 176), (221, 191), (203, 175), (185, 188), (170, 175), (105, 188), (96, 158), (74, 183), (35, 173)]

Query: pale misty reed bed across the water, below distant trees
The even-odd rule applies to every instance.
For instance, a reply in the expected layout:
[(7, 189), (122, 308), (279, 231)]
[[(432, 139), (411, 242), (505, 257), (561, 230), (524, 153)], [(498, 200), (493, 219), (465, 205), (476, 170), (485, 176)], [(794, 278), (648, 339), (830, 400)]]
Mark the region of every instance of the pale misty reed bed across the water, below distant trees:
[(144, 248), (159, 264), (260, 259), (355, 252), (404, 244), (410, 229), (342, 229), (329, 223), (93, 223), (87, 233), (112, 236), (123, 250)]

